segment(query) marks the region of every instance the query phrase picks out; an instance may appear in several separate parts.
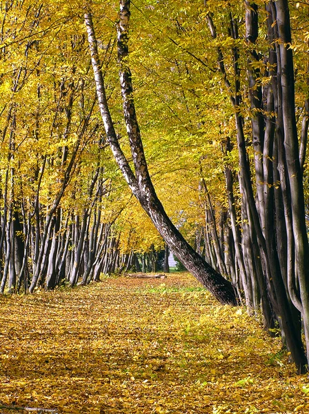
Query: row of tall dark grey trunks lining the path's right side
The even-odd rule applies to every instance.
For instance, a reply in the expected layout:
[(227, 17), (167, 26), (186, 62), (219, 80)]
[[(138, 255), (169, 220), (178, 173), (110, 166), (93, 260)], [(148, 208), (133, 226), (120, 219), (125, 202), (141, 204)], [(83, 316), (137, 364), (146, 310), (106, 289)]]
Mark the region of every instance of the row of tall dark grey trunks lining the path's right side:
[[(269, 75), (272, 81), (263, 91), (261, 84), (257, 82), (262, 75), (259, 66), (255, 64), (261, 59), (255, 50), (258, 36), (258, 6), (253, 2), (246, 2), (255, 195), (243, 130), (245, 121), (239, 110), (242, 103), (239, 50), (237, 46), (231, 49), (235, 72), (234, 86), (228, 80), (223, 53), (218, 50), (219, 70), (235, 108), (242, 252), (239, 251), (240, 240), (235, 228), (232, 171), (228, 167), (225, 170), (226, 188), (246, 306), (249, 309), (257, 308), (261, 298), (266, 326), (271, 328), (274, 317), (277, 319), (283, 342), (288, 346), (298, 371), (303, 372), (306, 370), (307, 360), (301, 342), (299, 311), (308, 342), (308, 238), (295, 118), (292, 48), (287, 46), (291, 42), (288, 3), (270, 1), (266, 4), (266, 9), (269, 16), (267, 27), (270, 43), (267, 59), (270, 63)], [(216, 39), (217, 32), (212, 14), (208, 13), (207, 19), (212, 38)], [(228, 30), (230, 37), (237, 41), (237, 20), (232, 16), (232, 12)], [(268, 115), (274, 112), (275, 117)], [(306, 139), (305, 135), (303, 139)], [(296, 286), (299, 286), (299, 292)]]

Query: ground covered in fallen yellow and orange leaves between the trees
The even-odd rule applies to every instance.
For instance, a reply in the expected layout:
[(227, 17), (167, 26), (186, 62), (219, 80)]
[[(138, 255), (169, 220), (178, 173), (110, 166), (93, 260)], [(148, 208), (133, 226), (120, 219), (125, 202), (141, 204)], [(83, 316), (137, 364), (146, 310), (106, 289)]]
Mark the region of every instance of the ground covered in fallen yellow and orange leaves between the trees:
[(309, 413), (308, 375), (280, 340), (187, 273), (3, 296), (0, 308), (1, 414)]

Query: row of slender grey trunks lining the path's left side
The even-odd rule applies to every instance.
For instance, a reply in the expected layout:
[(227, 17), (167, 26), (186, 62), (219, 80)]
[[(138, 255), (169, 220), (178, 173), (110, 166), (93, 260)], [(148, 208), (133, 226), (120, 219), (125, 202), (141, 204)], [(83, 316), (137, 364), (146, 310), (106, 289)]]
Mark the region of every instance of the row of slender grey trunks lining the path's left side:
[[(34, 233), (32, 224), (29, 220), (27, 228), (23, 230), (26, 237), (23, 241), (24, 237), (21, 239), (19, 236), (19, 214), (16, 211), (14, 217), (8, 215), (4, 232), (6, 243), (2, 252), (5, 265), (0, 279), (1, 293), (31, 293), (38, 286), (50, 290), (65, 281), (70, 286), (78, 283), (86, 285), (99, 280), (101, 274), (141, 271), (143, 260), (146, 262), (146, 271), (158, 268), (157, 253), (139, 255), (140, 259), (134, 252), (121, 255), (119, 234), (113, 234), (112, 223), (101, 222), (99, 212), (99, 205), (84, 211), (81, 217), (66, 215), (60, 208), (57, 210), (50, 221), (46, 238), (41, 239), (41, 243), (45, 244), (39, 246), (43, 251), (43, 259), (37, 270), (40, 276), (35, 284), (31, 264), (36, 257), (36, 250), (34, 244), (29, 242), (30, 235)], [(41, 219), (41, 231), (45, 228), (45, 220)]]

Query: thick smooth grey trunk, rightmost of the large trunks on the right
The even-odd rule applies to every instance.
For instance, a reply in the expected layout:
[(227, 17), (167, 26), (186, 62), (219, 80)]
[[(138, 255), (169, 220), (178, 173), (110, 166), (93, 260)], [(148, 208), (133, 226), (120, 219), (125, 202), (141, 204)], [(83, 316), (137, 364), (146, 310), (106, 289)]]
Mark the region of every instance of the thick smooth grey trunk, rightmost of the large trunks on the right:
[[(306, 230), (306, 215), (303, 199), (303, 182), (299, 162), (297, 121), (295, 115), (295, 73), (290, 30), (288, 0), (275, 1), (279, 50), (281, 58), (281, 97), (284, 131), (284, 148), (288, 168), (288, 184), (292, 212), (292, 230), (295, 241), (295, 274), (299, 283), (301, 314), (306, 346), (309, 349), (309, 246)], [(289, 285), (290, 286), (290, 285)], [(292, 298), (292, 295), (291, 295)], [(295, 303), (295, 306), (299, 301)], [(309, 352), (308, 352), (309, 362)]]

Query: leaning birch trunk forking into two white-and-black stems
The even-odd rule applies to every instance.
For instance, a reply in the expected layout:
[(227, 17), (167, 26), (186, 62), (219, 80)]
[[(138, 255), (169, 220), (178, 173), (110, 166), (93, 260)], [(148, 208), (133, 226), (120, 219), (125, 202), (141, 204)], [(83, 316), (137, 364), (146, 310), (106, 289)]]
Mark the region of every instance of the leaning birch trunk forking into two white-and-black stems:
[(114, 130), (114, 124), (112, 123), (112, 118), (108, 108), (108, 101), (106, 99), (106, 91), (97, 50), (97, 40), (94, 34), (92, 14), (90, 11), (85, 14), (85, 23), (88, 32), (88, 41), (91, 52), (92, 68), (94, 70), (94, 79), (97, 88), (99, 108), (106, 130), (108, 144), (110, 144), (114, 158), (116, 159), (123, 176), (130, 186), (132, 193), (135, 197), (137, 197), (139, 203), (175, 255), (177, 255), (186, 268), (190, 270), (190, 272), (195, 275), (195, 277), (204, 286), (206, 286), (208, 290), (210, 290), (219, 302), (222, 304), (231, 304), (236, 306), (237, 299), (232, 284), (228, 282), (228, 280), (224, 279), (224, 277), (213, 269), (208, 263), (206, 263), (203, 258), (195, 252), (190, 244), (186, 242), (181, 233), (179, 233), (177, 228), (175, 228), (172, 224), (172, 221), (170, 221), (155, 193), (155, 188), (152, 186), (134, 108), (131, 72), (126, 64), (126, 58), (128, 57), (129, 20), (130, 1), (121, 0), (120, 19), (117, 26), (118, 57), (120, 63), (119, 77), (121, 83), (121, 95), (123, 97), (123, 115), (126, 121), (135, 175), (120, 148), (119, 140)]

